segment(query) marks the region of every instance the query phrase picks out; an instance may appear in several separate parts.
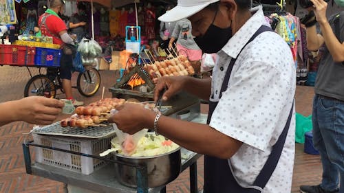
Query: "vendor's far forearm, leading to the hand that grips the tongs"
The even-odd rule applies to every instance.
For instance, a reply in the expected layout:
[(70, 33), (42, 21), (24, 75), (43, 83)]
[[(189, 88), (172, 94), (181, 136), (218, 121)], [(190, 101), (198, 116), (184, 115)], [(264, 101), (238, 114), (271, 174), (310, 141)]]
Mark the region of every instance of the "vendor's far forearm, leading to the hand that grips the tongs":
[(187, 91), (198, 98), (203, 100), (209, 100), (211, 95), (211, 78), (193, 78), (186, 77), (186, 81), (183, 84), (184, 91)]

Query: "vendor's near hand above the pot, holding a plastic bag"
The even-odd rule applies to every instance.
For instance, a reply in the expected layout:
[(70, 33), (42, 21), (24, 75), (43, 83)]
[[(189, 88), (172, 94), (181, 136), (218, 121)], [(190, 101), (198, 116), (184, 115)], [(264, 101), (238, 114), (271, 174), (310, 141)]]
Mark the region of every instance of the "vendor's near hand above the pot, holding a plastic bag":
[(110, 123), (116, 123), (117, 127), (125, 133), (133, 135), (153, 126), (155, 115), (153, 111), (144, 109), (140, 104), (123, 104), (116, 108), (118, 112), (109, 117)]

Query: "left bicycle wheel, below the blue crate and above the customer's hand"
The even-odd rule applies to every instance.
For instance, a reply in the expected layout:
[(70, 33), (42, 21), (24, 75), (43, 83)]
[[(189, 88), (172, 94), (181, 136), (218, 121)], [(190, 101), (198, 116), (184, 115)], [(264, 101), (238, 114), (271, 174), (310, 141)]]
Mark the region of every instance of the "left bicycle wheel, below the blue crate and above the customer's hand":
[(43, 74), (32, 77), (25, 85), (24, 97), (34, 95), (55, 98), (56, 87), (54, 82)]

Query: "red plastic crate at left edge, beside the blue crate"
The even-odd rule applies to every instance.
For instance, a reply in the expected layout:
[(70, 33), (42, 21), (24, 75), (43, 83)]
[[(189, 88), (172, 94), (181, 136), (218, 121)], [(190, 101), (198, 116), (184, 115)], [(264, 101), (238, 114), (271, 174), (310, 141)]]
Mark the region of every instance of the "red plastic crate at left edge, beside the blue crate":
[(0, 65), (32, 66), (36, 47), (0, 45)]

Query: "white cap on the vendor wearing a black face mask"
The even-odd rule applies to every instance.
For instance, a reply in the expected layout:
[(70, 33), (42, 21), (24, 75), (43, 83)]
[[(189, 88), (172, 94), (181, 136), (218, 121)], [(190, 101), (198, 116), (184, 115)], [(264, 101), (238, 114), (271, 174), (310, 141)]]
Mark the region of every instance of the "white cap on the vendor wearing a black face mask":
[(160, 16), (158, 19), (163, 22), (172, 22), (188, 18), (217, 1), (219, 0), (178, 0), (177, 6)]

